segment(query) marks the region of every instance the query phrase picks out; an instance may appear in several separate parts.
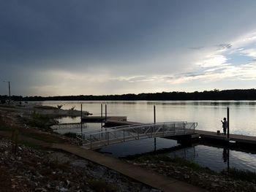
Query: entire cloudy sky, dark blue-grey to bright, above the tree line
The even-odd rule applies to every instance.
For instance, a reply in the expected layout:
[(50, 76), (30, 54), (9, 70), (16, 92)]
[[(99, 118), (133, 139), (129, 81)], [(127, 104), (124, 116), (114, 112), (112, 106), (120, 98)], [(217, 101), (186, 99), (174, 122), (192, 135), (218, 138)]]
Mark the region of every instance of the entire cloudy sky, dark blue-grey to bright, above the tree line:
[(0, 0), (0, 94), (256, 87), (255, 0)]

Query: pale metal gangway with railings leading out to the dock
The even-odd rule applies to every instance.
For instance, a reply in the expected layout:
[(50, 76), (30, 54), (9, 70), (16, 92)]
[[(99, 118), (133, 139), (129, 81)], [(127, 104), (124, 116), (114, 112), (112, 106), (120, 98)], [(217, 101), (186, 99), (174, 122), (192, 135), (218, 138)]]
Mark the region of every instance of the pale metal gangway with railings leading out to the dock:
[(196, 126), (197, 123), (187, 123), (186, 121), (148, 123), (102, 128), (95, 131), (78, 132), (76, 135), (82, 141), (83, 146), (96, 149), (131, 140), (195, 134)]

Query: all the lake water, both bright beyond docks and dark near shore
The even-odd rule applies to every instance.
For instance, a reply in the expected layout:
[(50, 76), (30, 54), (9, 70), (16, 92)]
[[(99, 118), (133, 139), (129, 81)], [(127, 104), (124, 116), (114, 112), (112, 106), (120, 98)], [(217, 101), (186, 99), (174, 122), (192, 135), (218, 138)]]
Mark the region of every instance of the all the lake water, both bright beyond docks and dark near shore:
[[(197, 122), (197, 129), (206, 131), (222, 130), (222, 120), (230, 107), (230, 133), (256, 136), (256, 101), (45, 101), (40, 104), (56, 107), (63, 104), (63, 109), (75, 107), (100, 115), (101, 105), (108, 115), (127, 116), (127, 120), (151, 123), (154, 120), (153, 107), (156, 106), (157, 122), (188, 121)], [(80, 118), (61, 118), (61, 123), (80, 122)], [(87, 130), (100, 128), (98, 123), (87, 123)], [(59, 133), (78, 132), (77, 129), (60, 130)], [(157, 150), (177, 146), (170, 139), (157, 138)], [(143, 139), (108, 146), (101, 149), (116, 157), (125, 157), (154, 150), (154, 139)], [(229, 166), (256, 172), (256, 155), (236, 150), (229, 150)], [(197, 145), (166, 153), (171, 158), (181, 157), (193, 160), (201, 166), (215, 171), (227, 168), (227, 150), (221, 147)]]

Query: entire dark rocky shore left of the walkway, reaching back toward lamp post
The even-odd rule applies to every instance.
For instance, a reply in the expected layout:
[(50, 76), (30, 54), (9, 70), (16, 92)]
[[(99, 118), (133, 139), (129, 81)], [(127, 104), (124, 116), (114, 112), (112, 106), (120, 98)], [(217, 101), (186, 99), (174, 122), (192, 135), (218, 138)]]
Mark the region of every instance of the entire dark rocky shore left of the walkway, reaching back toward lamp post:
[[(45, 126), (37, 127), (54, 123), (56, 109), (36, 108), (0, 107), (0, 191), (158, 191), (76, 155), (42, 147), (45, 142), (79, 142), (49, 132)], [(44, 115), (51, 112), (53, 116), (45, 119)], [(61, 113), (67, 115), (69, 111)], [(16, 154), (12, 138), (15, 130)]]

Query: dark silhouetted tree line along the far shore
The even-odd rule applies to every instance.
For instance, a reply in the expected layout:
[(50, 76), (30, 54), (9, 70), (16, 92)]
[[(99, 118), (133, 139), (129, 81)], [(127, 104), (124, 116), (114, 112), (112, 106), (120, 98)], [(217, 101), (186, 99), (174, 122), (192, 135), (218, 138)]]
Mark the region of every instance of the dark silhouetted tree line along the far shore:
[[(7, 100), (8, 96), (0, 96), (1, 101)], [(14, 101), (110, 101), (110, 100), (256, 100), (255, 89), (234, 89), (202, 92), (162, 92), (162, 93), (139, 93), (105, 96), (12, 96)]]

